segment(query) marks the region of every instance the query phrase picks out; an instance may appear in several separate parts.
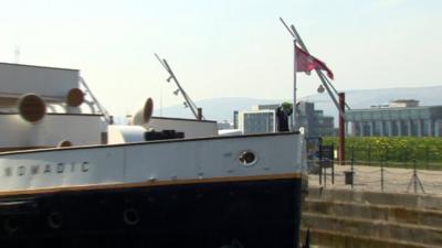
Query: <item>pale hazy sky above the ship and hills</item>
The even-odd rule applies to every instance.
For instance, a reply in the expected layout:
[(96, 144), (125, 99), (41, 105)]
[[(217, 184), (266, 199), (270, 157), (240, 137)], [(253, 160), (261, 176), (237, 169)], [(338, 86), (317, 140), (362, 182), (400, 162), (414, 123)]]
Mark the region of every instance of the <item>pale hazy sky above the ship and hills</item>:
[[(146, 97), (182, 101), (154, 57), (165, 56), (193, 100), (291, 98), (294, 23), (339, 89), (441, 85), (436, 0), (0, 1), (0, 57), (72, 67), (113, 114)], [(299, 95), (316, 76), (298, 74)]]

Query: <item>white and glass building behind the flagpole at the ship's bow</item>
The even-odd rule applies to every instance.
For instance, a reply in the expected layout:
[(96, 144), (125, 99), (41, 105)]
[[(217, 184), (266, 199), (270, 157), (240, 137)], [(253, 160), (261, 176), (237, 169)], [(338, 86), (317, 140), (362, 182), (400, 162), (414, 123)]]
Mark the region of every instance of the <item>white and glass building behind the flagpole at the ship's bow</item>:
[[(243, 133), (276, 132), (276, 108), (280, 105), (259, 105), (252, 110), (234, 111), (233, 128)], [(334, 118), (324, 116), (322, 110), (315, 110), (313, 103), (297, 105), (299, 127), (304, 128), (306, 137), (335, 136)], [(288, 119), (292, 127), (292, 118)]]

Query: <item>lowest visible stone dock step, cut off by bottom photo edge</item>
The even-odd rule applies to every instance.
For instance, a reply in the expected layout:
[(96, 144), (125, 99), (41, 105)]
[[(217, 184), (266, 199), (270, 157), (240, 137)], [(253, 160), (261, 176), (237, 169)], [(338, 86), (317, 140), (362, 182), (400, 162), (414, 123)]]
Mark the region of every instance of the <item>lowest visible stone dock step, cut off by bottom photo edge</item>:
[[(311, 228), (311, 244), (333, 248), (438, 248), (440, 246), (423, 245), (403, 240), (373, 238), (362, 235), (348, 235), (338, 230)], [(307, 229), (301, 229), (301, 238), (305, 239)], [(314, 247), (312, 246), (312, 247)]]

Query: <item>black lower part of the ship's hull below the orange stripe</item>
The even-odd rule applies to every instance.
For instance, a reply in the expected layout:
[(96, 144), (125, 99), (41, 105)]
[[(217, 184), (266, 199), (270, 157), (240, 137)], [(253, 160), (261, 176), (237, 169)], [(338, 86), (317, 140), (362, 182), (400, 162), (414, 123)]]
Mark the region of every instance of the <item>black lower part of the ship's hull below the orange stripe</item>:
[(293, 248), (299, 241), (301, 179), (1, 201), (0, 244), (8, 248)]

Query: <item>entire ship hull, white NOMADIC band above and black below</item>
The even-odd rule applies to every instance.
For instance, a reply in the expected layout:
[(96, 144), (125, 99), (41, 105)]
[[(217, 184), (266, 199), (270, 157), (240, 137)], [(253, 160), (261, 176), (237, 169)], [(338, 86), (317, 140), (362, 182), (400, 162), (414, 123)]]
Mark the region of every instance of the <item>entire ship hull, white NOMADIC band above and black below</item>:
[(1, 247), (293, 248), (302, 137), (0, 155)]

